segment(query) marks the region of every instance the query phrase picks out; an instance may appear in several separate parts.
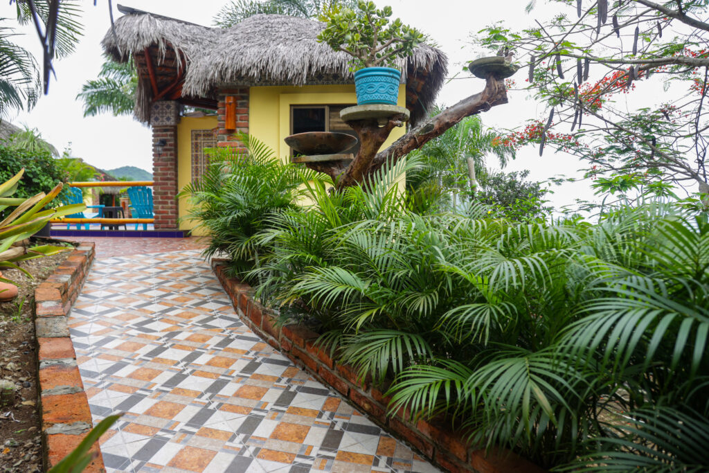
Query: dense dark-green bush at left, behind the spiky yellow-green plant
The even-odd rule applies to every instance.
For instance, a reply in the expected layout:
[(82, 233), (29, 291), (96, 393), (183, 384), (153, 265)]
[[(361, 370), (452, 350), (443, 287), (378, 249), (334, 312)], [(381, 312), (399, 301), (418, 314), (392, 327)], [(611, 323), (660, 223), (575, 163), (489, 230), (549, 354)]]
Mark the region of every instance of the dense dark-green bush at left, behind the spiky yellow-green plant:
[(40, 192), (49, 192), (67, 179), (48, 150), (31, 152), (0, 145), (0, 162), (0, 182), (11, 179), (21, 169), (25, 169), (25, 177), (18, 183), (17, 197), (28, 198)]

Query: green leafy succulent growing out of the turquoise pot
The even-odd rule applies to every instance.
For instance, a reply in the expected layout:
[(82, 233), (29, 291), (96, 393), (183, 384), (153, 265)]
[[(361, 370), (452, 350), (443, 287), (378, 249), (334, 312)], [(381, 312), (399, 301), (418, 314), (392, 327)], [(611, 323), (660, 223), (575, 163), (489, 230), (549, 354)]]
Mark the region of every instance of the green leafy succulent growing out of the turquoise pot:
[(357, 9), (329, 9), (323, 15), (327, 23), (318, 41), (335, 51), (352, 56), (353, 69), (388, 65), (394, 67), (397, 58), (408, 57), (423, 40), (423, 34), (401, 23), (399, 18), (389, 23), (391, 6), (377, 9), (373, 1), (359, 0)]

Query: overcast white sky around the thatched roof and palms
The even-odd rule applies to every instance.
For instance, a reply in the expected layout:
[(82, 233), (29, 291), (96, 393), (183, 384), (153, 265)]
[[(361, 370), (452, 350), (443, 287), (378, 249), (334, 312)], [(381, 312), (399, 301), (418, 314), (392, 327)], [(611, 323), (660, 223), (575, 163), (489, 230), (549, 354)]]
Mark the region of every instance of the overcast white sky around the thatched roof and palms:
[[(101, 39), (110, 28), (106, 0), (99, 0), (97, 5), (91, 0), (84, 0), (85, 34), (71, 57), (55, 61), (57, 79), (50, 82), (48, 96), (40, 99), (30, 113), (20, 112), (9, 116), (9, 121), (18, 125), (38, 128), (43, 138), (62, 150), (71, 147), (72, 155), (82, 157), (92, 165), (103, 169), (113, 169), (132, 165), (152, 172), (150, 128), (142, 126), (132, 117), (113, 117), (110, 114), (83, 118), (82, 103), (75, 96), (82, 84), (94, 79), (99, 72), (101, 57)], [(126, 6), (133, 6), (165, 16), (184, 19), (192, 23), (211, 26), (213, 16), (227, 3), (226, 0), (122, 0)], [(450, 60), (450, 75), (469, 77), (462, 72), (462, 65), (478, 57), (480, 50), (473, 50), (469, 45), (469, 36), (489, 23), (504, 20), (512, 29), (522, 28), (533, 23), (535, 18), (545, 18), (546, 7), (540, 7), (532, 15), (527, 15), (524, 7), (527, 0), (497, 0), (483, 2), (479, 0), (376, 0), (376, 4), (393, 7), (394, 16), (404, 23), (411, 24), (428, 33)], [(121, 16), (113, 3), (114, 17)], [(0, 4), (0, 18), (15, 18), (15, 6), (8, 2)], [(8, 23), (14, 23), (13, 21)], [(26, 48), (39, 57), (39, 40), (33, 28), (21, 28), (26, 33), (24, 38), (16, 38)], [(524, 80), (525, 71), (518, 72), (518, 82)], [(520, 79), (521, 77), (521, 79)], [(466, 96), (481, 91), (484, 82), (480, 79), (455, 79), (445, 85), (437, 101), (439, 104), (452, 105)], [(492, 108), (482, 114), (484, 123), (496, 128), (514, 128), (528, 118), (535, 118), (545, 113), (543, 106), (526, 98), (525, 91), (510, 91), (510, 103)], [(491, 160), (490, 165), (493, 164)], [(557, 174), (574, 175), (580, 167), (571, 155), (554, 155), (551, 148), (545, 150), (544, 157), (539, 157), (537, 150), (526, 148), (518, 153), (518, 159), (508, 165), (506, 170), (530, 169), (530, 178), (543, 181)], [(571, 204), (576, 197), (591, 199), (593, 194), (586, 184), (566, 184), (554, 187), (552, 204), (562, 206)]]

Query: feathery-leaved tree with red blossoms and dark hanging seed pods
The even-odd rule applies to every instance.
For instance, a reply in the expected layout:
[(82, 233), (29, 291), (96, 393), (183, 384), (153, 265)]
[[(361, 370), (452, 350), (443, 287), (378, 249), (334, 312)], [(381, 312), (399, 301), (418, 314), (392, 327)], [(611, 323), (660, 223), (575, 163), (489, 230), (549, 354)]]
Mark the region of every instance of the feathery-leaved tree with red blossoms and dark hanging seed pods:
[[(546, 115), (503, 137), (588, 163), (602, 191), (709, 193), (707, 0), (549, 0), (552, 18), (476, 36), (527, 66), (527, 89)], [(535, 14), (535, 1), (528, 6)], [(518, 77), (518, 82), (521, 82)]]

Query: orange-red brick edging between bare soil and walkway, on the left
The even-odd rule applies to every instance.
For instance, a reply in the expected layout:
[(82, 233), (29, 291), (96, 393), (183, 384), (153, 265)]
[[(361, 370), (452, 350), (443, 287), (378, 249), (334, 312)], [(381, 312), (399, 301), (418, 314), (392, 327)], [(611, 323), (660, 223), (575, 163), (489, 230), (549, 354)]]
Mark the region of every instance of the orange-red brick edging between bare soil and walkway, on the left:
[[(96, 255), (94, 243), (82, 243), (35, 289), (35, 334), (39, 345), (39, 399), (45, 469), (62, 460), (89, 433), (91, 411), (77, 355), (69, 338), (67, 313), (77, 300)], [(104, 472), (98, 444), (85, 472)]]

